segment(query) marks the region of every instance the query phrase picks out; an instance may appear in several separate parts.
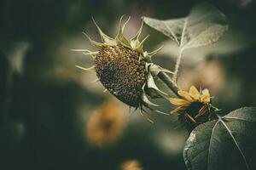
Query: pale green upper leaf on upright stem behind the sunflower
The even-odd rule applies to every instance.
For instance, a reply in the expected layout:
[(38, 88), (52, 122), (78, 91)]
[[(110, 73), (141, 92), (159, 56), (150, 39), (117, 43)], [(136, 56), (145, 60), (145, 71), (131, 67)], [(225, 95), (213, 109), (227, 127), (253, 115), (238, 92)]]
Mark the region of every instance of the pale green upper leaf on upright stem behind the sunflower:
[(144, 17), (144, 22), (171, 37), (182, 50), (217, 42), (228, 28), (224, 14), (209, 3), (195, 6), (186, 18), (156, 20)]

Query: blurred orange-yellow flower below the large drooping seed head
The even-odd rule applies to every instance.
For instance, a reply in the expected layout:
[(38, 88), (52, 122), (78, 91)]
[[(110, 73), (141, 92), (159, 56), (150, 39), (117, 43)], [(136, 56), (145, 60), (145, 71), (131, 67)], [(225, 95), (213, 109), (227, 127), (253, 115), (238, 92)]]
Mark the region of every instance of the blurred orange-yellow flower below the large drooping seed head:
[(125, 127), (125, 116), (115, 102), (93, 111), (86, 124), (86, 137), (91, 144), (104, 146), (119, 139)]

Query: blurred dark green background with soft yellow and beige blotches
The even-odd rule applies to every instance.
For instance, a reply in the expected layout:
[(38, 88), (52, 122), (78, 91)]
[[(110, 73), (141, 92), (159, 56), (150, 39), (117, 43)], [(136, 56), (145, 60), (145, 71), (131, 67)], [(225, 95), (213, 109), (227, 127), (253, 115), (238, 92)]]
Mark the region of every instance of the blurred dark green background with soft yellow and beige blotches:
[[(216, 44), (185, 54), (178, 84), (209, 88), (213, 104), (228, 113), (256, 105), (253, 0), (209, 1), (226, 14), (229, 31)], [(119, 17), (131, 15), (125, 35), (137, 32), (142, 16), (186, 16), (193, 0), (1, 0), (0, 1), (0, 169), (119, 169), (136, 160), (150, 169), (186, 169), (184, 127), (175, 116), (152, 113), (154, 125), (103, 94), (90, 57), (72, 48), (95, 50), (82, 31), (100, 40), (93, 16), (115, 36)], [(176, 50), (159, 32), (145, 48), (165, 48), (154, 61), (173, 69)], [(170, 111), (165, 101), (161, 110)], [(103, 124), (103, 125), (102, 125)], [(107, 124), (107, 125), (106, 125)], [(124, 168), (123, 168), (124, 169)], [(132, 169), (132, 168), (130, 168)], [(135, 168), (133, 168), (135, 169)]]

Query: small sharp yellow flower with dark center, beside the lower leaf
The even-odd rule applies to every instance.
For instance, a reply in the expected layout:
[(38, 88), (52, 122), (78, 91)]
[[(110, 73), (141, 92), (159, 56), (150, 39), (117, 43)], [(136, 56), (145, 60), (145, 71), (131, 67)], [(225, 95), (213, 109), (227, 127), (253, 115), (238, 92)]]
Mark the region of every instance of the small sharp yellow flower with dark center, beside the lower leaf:
[(198, 91), (195, 86), (189, 88), (189, 92), (179, 90), (177, 94), (181, 97), (170, 98), (172, 105), (177, 108), (171, 113), (183, 112), (183, 118), (186, 122), (200, 122), (202, 116), (207, 116), (211, 107), (211, 96), (208, 89)]

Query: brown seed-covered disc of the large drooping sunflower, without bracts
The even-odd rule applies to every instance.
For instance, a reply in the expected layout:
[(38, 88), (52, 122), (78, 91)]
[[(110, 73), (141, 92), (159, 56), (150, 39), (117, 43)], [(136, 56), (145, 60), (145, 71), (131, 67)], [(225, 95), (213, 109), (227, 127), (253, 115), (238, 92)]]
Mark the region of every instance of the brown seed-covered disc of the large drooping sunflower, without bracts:
[(96, 54), (96, 75), (108, 91), (127, 105), (138, 107), (147, 71), (140, 53), (118, 44)]

